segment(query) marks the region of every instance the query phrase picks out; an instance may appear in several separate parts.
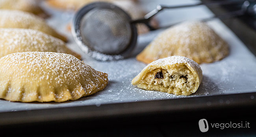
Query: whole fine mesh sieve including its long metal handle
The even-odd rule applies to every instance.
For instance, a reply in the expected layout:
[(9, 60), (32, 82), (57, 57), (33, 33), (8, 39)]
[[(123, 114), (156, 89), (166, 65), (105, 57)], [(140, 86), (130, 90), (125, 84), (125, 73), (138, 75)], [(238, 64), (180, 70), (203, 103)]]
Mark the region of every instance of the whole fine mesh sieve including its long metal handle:
[[(198, 2), (196, 4), (165, 6), (158, 5), (156, 9), (146, 14), (144, 18), (132, 20), (121, 8), (106, 2), (95, 2), (86, 5), (76, 13), (72, 24), (72, 35), (80, 48), (93, 58), (106, 61), (122, 59), (130, 56), (137, 43), (135, 23), (144, 23), (150, 30), (150, 19), (163, 9), (192, 7), (197, 5), (228, 5), (241, 3), (241, 9), (212, 18), (227, 18), (243, 14), (256, 15), (256, 0), (221, 0), (214, 2)], [(170, 26), (167, 26), (170, 27)], [(160, 27), (165, 28), (165, 27)], [(159, 28), (158, 28), (159, 29)]]

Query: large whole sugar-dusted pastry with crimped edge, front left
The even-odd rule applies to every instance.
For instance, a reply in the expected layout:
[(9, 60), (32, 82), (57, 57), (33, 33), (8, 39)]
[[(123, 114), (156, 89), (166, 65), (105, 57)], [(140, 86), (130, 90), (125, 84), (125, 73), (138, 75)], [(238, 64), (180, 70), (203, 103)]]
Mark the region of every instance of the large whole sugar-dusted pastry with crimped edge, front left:
[(21, 102), (63, 102), (95, 94), (108, 84), (70, 54), (17, 52), (0, 58), (0, 98)]

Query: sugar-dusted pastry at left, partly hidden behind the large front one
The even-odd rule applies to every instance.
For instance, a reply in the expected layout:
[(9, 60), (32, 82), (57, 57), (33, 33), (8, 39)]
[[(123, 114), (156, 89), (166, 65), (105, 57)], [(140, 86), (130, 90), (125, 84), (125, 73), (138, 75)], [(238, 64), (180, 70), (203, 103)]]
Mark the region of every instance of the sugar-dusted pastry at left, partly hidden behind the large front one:
[(67, 53), (81, 58), (58, 38), (32, 29), (0, 28), (0, 58), (15, 52), (48, 51)]

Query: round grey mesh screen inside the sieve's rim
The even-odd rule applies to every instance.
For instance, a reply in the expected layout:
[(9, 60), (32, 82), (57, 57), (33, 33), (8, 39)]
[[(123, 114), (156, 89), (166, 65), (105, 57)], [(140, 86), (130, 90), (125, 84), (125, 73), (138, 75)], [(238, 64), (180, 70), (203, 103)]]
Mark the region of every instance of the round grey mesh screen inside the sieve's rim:
[(80, 36), (91, 50), (120, 54), (132, 37), (130, 19), (118, 8), (95, 7), (82, 17)]

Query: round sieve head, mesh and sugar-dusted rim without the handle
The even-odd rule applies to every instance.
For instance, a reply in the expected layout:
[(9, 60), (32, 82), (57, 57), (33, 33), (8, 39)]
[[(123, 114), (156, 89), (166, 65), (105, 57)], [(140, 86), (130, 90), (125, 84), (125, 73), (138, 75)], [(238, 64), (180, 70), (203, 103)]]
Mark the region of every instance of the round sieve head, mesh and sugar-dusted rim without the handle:
[(105, 2), (89, 4), (76, 14), (72, 33), (83, 51), (96, 59), (121, 59), (130, 55), (137, 30), (121, 8)]

